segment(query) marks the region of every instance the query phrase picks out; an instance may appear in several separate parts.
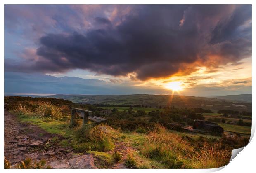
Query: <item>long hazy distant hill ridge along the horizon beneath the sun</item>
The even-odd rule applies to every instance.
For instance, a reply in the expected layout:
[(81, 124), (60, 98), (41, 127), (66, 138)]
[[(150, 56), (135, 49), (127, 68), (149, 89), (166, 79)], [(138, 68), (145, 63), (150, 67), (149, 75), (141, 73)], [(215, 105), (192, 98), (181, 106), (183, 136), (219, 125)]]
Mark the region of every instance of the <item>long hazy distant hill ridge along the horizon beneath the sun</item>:
[[(22, 95), (20, 95), (22, 96)], [(26, 95), (28, 96), (28, 95)], [(251, 103), (245, 101), (230, 101), (223, 98), (207, 98), (180, 95), (76, 95), (57, 94), (51, 96), (31, 97), (53, 97), (70, 100), (73, 103), (97, 104), (97, 105), (145, 105), (151, 108), (164, 108), (165, 106), (175, 106), (177, 108), (204, 108), (214, 112), (222, 109), (239, 110), (251, 112)], [(239, 104), (237, 102), (240, 102)], [(237, 107), (233, 104), (243, 105)]]

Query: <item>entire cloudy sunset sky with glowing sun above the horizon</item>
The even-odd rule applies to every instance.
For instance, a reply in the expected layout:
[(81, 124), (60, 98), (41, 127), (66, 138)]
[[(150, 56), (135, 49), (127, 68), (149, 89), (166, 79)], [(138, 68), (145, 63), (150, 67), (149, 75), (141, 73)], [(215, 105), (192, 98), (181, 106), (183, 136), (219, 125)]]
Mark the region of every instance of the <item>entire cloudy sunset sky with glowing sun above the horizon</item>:
[(5, 94), (251, 94), (251, 5), (5, 5)]

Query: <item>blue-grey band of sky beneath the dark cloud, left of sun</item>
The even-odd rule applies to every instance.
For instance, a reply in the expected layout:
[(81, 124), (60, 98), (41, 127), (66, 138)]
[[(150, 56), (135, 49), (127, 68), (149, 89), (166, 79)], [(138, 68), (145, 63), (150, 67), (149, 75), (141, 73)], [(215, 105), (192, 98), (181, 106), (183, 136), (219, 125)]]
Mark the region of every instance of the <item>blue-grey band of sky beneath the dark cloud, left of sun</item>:
[[(113, 82), (113, 83), (112, 83)], [(166, 89), (157, 86), (133, 86), (131, 83), (105, 82), (99, 79), (80, 77), (54, 77), (39, 73), (24, 74), (5, 72), (5, 94), (52, 93), (52, 94), (161, 94)]]

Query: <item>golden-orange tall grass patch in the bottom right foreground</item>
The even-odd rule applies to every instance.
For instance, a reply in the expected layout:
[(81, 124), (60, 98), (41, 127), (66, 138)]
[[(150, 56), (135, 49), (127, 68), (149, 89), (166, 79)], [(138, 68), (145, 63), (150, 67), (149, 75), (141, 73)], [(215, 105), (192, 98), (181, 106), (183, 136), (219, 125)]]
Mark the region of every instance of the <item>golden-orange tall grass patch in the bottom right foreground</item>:
[(187, 140), (160, 127), (147, 136), (140, 153), (168, 168), (218, 168), (228, 164), (230, 152), (218, 143), (192, 146)]

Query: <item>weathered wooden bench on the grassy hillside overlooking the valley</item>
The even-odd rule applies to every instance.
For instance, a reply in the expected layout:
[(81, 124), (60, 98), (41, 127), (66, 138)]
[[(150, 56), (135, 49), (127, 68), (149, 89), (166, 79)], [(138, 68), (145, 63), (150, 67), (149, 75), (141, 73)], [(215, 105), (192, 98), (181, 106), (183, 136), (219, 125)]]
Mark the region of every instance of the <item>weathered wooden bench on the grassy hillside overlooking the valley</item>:
[(74, 120), (76, 118), (77, 112), (79, 113), (78, 115), (80, 117), (83, 117), (83, 125), (87, 124), (88, 120), (94, 121), (94, 122), (102, 122), (102, 121), (107, 120), (102, 117), (94, 116), (94, 112), (92, 112), (92, 111), (83, 110), (83, 109), (79, 109), (79, 108), (72, 108), (71, 109), (71, 121), (70, 121), (72, 127), (74, 126)]

